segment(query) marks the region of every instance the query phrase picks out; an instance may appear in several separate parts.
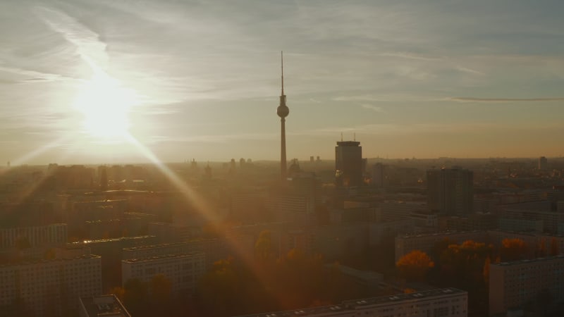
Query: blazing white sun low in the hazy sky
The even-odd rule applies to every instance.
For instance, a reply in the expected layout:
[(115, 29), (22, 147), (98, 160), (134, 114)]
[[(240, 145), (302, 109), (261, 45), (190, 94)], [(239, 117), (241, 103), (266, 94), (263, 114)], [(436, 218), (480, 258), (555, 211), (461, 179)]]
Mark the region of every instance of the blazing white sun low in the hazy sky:
[[(92, 66), (92, 65), (91, 65)], [(125, 138), (130, 128), (129, 112), (136, 104), (135, 93), (99, 68), (84, 82), (74, 102), (82, 113), (82, 128), (92, 137)]]

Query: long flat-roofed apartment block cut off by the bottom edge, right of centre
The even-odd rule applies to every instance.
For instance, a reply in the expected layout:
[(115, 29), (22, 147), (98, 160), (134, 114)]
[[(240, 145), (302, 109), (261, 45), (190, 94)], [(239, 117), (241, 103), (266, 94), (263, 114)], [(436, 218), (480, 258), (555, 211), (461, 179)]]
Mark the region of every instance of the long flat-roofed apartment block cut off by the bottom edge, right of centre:
[(468, 293), (455, 288), (445, 288), (397, 294), (393, 296), (355, 299), (340, 305), (321, 306), (293, 311), (255, 313), (246, 317), (466, 317)]

